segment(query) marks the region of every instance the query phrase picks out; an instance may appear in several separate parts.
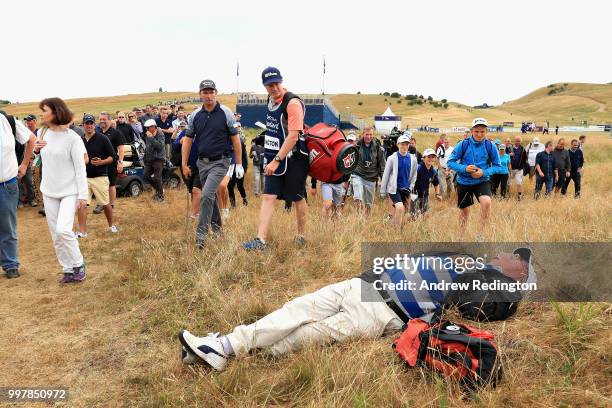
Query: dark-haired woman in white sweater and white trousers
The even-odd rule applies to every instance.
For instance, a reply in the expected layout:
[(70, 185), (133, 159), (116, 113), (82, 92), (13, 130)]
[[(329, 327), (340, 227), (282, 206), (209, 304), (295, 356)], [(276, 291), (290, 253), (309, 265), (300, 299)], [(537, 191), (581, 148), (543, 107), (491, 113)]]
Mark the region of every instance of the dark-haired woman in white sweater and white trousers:
[(73, 114), (63, 100), (48, 98), (38, 107), (46, 126), (38, 132), (35, 145), (45, 163), (40, 190), (55, 253), (64, 271), (61, 283), (80, 282), (85, 279), (85, 263), (72, 225), (76, 210), (87, 205), (87, 151), (79, 135), (68, 128)]

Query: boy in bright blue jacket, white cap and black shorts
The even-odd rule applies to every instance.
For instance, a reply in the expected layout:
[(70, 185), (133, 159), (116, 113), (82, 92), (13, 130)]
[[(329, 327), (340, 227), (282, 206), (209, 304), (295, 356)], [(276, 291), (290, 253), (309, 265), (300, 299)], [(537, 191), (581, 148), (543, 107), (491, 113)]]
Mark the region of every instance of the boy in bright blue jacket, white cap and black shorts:
[(484, 240), (485, 224), (491, 214), (491, 175), (501, 172), (497, 149), (487, 140), (487, 120), (472, 121), (472, 135), (457, 144), (448, 159), (448, 167), (457, 173), (457, 207), (461, 231), (465, 231), (474, 197), (480, 203), (478, 241)]

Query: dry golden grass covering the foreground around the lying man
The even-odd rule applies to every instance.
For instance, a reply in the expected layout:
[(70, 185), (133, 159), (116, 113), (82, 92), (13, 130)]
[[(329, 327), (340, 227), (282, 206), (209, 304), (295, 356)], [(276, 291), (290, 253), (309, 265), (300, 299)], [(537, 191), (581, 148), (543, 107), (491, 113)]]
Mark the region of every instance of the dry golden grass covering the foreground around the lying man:
[[(435, 141), (417, 138), (420, 151)], [(590, 134), (587, 143), (580, 200), (495, 201), (487, 239), (610, 242), (612, 140)], [(471, 398), (452, 382), (407, 369), (391, 350), (396, 336), (312, 346), (282, 358), (256, 352), (222, 373), (182, 365), (179, 329), (225, 333), (294, 296), (355, 276), (362, 242), (472, 241), (476, 234), (475, 222), (458, 231), (451, 201), (433, 202), (427, 219), (398, 235), (383, 222), (380, 203), (366, 218), (349, 201), (332, 222), (321, 218), (317, 194), (309, 200), (304, 248), (294, 247), (294, 214), (279, 203), (270, 248), (247, 253), (240, 243), (255, 234), (259, 210), (250, 170), (247, 185), (249, 206), (233, 210), (223, 235), (203, 251), (193, 247), (183, 186), (169, 191), (164, 204), (152, 202), (150, 192), (120, 199), (118, 235), (106, 232), (102, 215), (90, 214), (90, 235), (81, 241), (88, 278), (69, 286), (58, 283), (45, 219), (35, 209), (19, 210), (22, 277), (0, 279), (0, 385), (69, 387), (70, 401), (56, 405), (69, 407), (612, 404), (612, 308), (600, 303), (566, 303), (560, 312), (523, 303), (508, 321), (483, 324), (498, 336), (505, 379)]]

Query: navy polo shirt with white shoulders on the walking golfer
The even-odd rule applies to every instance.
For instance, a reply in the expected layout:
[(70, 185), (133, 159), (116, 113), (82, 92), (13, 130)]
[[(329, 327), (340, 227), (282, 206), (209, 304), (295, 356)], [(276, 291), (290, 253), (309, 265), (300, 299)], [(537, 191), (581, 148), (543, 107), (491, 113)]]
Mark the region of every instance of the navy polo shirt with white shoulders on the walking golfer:
[(194, 139), (192, 150), (197, 149), (198, 156), (229, 156), (230, 136), (238, 134), (235, 123), (234, 112), (217, 102), (211, 112), (200, 107), (189, 116), (185, 136)]

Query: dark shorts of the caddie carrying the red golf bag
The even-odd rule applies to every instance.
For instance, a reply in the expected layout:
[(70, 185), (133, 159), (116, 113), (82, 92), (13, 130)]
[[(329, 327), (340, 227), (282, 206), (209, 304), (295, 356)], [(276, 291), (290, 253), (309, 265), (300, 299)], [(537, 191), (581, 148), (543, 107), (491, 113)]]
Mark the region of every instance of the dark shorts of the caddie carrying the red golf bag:
[(308, 157), (295, 153), (287, 159), (287, 171), (282, 176), (265, 176), (264, 194), (275, 195), (278, 200), (300, 201), (306, 198)]

